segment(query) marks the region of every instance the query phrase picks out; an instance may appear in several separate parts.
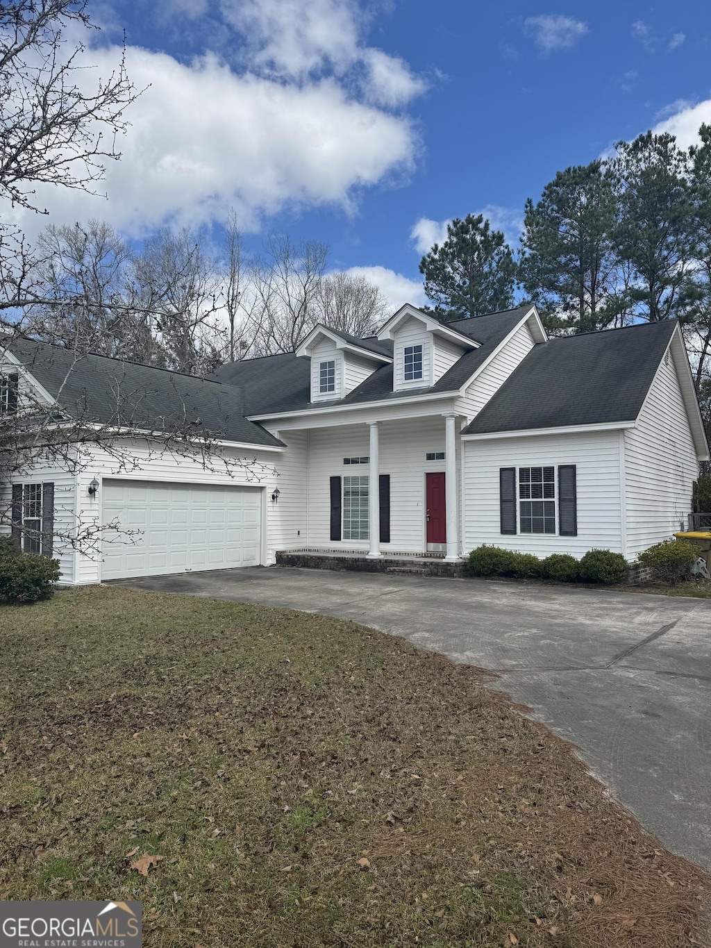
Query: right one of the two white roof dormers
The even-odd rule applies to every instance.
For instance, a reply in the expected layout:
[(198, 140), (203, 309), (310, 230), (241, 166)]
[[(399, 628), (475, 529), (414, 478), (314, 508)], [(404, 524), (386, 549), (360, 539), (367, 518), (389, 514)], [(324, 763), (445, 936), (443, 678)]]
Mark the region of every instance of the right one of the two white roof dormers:
[(447, 328), (427, 313), (406, 304), (385, 323), (378, 339), (392, 339), (392, 391), (426, 389), (479, 343)]

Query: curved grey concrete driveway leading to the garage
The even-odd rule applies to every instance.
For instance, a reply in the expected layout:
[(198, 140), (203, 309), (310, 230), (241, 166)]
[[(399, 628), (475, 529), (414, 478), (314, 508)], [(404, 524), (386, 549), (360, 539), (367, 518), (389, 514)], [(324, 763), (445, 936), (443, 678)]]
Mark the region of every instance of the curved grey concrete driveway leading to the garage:
[(711, 869), (711, 600), (297, 569), (120, 580), (354, 619), (501, 688), (667, 848)]

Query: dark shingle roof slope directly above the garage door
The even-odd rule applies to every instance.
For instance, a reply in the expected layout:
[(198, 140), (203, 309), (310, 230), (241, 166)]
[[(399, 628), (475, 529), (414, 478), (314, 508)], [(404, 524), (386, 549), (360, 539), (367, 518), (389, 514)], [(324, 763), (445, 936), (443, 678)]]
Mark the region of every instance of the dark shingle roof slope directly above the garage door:
[(4, 346), (75, 420), (171, 430), (185, 427), (185, 411), (188, 421), (201, 419), (200, 429), (212, 437), (264, 447), (282, 444), (246, 420), (239, 389), (214, 380), (107, 356), (77, 357), (72, 350), (25, 338)]

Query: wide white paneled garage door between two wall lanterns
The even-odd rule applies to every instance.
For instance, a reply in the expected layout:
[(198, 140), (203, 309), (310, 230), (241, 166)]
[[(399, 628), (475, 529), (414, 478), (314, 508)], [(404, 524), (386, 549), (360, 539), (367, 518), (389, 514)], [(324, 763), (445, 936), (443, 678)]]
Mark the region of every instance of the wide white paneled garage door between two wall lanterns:
[(102, 579), (223, 570), (260, 561), (258, 487), (213, 487), (104, 480), (101, 522), (118, 521), (132, 538), (107, 530)]

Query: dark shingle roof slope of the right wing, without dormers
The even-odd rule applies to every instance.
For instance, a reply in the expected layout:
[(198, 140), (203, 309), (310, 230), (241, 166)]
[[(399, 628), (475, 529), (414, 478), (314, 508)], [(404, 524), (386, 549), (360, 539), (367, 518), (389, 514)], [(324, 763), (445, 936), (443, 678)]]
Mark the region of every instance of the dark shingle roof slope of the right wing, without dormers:
[(634, 420), (676, 325), (643, 323), (534, 346), (464, 433)]

